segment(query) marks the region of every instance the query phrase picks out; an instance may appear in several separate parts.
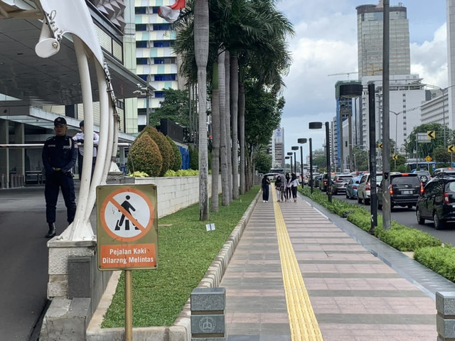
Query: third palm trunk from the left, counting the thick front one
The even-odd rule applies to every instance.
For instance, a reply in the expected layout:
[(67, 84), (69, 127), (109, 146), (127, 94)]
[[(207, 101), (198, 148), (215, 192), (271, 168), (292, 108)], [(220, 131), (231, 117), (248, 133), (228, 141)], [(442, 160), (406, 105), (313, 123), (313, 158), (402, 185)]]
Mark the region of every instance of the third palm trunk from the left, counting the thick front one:
[[(218, 51), (220, 52), (220, 51)], [(223, 189), (222, 205), (229, 205), (229, 181), (228, 181), (228, 141), (226, 137), (226, 82), (225, 82), (225, 53), (218, 53), (218, 87), (220, 89), (220, 168), (221, 188)]]

